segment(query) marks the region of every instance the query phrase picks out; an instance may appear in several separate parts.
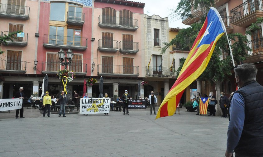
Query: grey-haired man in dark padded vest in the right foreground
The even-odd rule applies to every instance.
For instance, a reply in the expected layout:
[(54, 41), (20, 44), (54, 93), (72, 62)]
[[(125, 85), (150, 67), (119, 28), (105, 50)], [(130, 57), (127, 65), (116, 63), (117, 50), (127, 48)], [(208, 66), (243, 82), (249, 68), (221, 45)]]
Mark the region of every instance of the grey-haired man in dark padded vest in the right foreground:
[(263, 87), (256, 82), (257, 69), (252, 64), (234, 68), (239, 89), (232, 95), (227, 130), (226, 157), (263, 156)]

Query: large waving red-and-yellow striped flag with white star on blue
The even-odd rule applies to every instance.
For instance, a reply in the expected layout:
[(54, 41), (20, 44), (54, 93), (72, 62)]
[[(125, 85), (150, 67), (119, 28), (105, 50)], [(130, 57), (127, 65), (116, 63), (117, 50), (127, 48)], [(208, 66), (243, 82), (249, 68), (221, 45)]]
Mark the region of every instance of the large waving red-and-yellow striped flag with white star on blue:
[(224, 30), (225, 26), (218, 11), (210, 7), (179, 76), (161, 103), (155, 119), (175, 113), (184, 89), (203, 73)]

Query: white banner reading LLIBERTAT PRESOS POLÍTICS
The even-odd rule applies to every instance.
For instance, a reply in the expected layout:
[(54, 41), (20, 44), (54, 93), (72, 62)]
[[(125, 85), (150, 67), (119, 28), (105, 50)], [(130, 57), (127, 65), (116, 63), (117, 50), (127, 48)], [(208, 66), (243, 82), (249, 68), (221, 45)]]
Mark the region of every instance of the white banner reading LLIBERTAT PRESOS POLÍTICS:
[(110, 99), (80, 99), (80, 114), (109, 113), (110, 105)]

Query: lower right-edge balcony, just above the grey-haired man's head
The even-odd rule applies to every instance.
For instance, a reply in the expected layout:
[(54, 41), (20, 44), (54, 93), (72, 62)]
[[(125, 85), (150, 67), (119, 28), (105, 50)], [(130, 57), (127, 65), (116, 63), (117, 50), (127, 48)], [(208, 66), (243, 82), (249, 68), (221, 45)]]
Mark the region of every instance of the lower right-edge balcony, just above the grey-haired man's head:
[(256, 63), (263, 60), (263, 38), (257, 38), (247, 42), (251, 51), (247, 51), (248, 56), (244, 63)]

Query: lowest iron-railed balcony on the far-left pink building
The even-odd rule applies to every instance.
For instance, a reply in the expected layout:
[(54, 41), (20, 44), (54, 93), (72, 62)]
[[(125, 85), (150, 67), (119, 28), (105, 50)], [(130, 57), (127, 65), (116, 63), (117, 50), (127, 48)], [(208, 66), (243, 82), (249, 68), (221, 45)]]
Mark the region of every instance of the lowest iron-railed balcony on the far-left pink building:
[(26, 73), (26, 61), (0, 60), (0, 73)]

